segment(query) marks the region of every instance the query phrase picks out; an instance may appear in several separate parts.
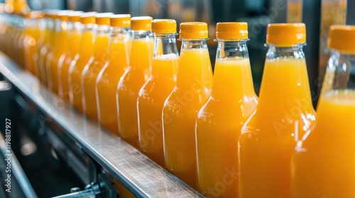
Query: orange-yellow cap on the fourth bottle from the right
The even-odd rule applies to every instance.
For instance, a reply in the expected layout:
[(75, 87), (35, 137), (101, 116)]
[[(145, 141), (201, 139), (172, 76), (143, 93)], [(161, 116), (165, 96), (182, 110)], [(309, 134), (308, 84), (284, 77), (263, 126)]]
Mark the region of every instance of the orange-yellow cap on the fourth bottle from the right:
[(180, 23), (179, 37), (182, 39), (206, 39), (208, 38), (207, 23), (204, 22)]

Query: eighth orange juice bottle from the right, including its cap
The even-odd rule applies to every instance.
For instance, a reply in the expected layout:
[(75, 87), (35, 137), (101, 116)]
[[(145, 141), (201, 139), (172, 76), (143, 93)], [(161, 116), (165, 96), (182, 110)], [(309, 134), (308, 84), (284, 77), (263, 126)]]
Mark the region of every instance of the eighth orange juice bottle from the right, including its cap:
[(109, 52), (110, 15), (112, 14), (113, 13), (97, 14), (97, 27), (94, 29), (94, 52), (90, 61), (82, 71), (82, 106), (84, 113), (95, 121), (98, 121), (95, 86), (97, 76), (107, 62)]

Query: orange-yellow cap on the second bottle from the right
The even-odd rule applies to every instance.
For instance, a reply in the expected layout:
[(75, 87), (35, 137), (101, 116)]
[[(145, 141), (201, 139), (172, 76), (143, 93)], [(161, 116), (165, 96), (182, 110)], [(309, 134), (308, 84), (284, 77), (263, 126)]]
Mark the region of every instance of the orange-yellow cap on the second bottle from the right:
[(266, 31), (266, 43), (295, 45), (306, 42), (305, 23), (270, 23)]

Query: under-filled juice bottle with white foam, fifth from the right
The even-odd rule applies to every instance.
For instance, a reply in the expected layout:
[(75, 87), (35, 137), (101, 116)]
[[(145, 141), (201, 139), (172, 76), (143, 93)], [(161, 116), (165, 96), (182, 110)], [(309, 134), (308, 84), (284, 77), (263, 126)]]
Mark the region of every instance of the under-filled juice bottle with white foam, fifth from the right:
[(154, 52), (152, 74), (138, 93), (138, 136), (143, 153), (165, 168), (163, 152), (162, 110), (165, 99), (175, 87), (178, 69), (176, 21), (152, 22)]

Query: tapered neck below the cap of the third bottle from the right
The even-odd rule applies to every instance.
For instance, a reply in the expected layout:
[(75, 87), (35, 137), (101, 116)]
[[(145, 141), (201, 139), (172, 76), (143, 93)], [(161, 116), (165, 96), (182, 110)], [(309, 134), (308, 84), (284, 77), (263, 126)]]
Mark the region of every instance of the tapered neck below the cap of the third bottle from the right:
[[(246, 96), (256, 97), (251, 76), (246, 40), (217, 40), (212, 97), (219, 100), (244, 101)], [(230, 95), (226, 96), (228, 88)]]

